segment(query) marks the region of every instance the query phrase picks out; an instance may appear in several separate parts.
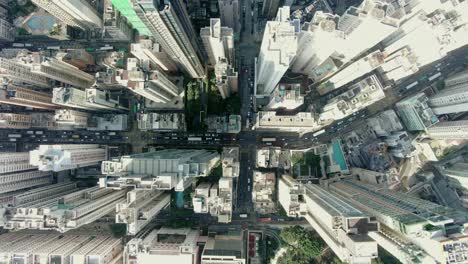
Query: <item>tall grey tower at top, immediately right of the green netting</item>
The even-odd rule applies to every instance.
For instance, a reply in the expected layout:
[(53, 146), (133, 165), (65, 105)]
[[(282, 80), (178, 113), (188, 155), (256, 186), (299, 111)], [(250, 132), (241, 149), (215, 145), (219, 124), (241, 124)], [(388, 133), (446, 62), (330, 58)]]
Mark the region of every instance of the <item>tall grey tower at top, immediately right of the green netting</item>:
[(158, 8), (152, 1), (135, 0), (134, 7), (172, 60), (192, 78), (202, 78), (205, 72), (200, 61), (197, 36), (183, 3), (172, 0)]

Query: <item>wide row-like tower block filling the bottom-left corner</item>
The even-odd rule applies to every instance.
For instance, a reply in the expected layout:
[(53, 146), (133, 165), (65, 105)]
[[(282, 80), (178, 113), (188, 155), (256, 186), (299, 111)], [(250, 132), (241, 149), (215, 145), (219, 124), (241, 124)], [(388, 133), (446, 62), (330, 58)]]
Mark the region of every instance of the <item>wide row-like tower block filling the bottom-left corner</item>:
[(0, 235), (0, 255), (7, 263), (122, 263), (121, 239), (56, 232), (10, 232)]

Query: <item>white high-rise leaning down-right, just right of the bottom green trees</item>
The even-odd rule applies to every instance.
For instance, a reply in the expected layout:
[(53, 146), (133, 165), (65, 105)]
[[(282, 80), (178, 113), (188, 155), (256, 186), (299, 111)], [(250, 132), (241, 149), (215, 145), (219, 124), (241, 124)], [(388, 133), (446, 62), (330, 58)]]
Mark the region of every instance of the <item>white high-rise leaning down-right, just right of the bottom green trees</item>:
[(341, 196), (314, 184), (298, 184), (283, 175), (279, 201), (290, 216), (305, 217), (336, 256), (347, 263), (370, 263), (377, 243), (369, 237), (379, 224)]

